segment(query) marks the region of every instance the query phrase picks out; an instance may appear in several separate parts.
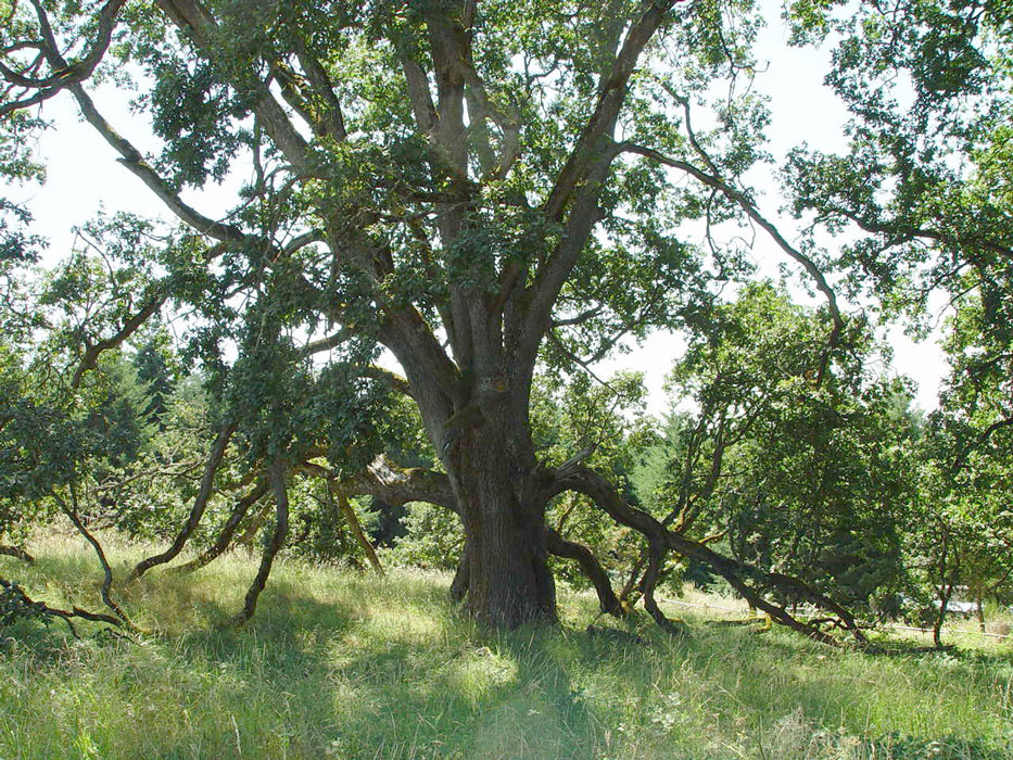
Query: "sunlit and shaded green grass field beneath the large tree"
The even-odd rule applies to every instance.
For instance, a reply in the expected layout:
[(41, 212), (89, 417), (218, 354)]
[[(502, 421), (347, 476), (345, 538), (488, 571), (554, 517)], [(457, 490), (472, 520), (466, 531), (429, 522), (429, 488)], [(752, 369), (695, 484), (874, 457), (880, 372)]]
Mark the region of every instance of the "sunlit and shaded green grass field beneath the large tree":
[[(50, 604), (99, 609), (80, 542), (0, 557)], [(110, 548), (117, 568), (138, 549)], [(593, 598), (561, 592), (560, 630), (503, 634), (455, 613), (449, 579), (282, 563), (254, 620), (233, 613), (253, 560), (125, 596), (136, 642), (54, 623), (0, 631), (0, 760), (102, 758), (1013, 758), (1013, 643), (949, 653), (832, 650), (797, 634), (646, 621), (592, 634)], [(695, 597), (698, 601), (700, 597)]]

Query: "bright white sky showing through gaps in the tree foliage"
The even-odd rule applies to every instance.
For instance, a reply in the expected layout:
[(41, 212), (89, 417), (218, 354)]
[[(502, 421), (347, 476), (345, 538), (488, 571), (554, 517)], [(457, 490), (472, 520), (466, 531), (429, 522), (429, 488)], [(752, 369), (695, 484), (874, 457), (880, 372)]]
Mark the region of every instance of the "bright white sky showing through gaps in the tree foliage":
[[(768, 27), (758, 40), (757, 68), (760, 74), (756, 87), (771, 99), (770, 151), (777, 160), (803, 141), (811, 148), (841, 149), (845, 144), (841, 127), (847, 115), (822, 83), (828, 69), (828, 52), (788, 48), (783, 23), (776, 13), (769, 15)], [(128, 98), (124, 93), (105, 88), (93, 94), (103, 115), (138, 148), (144, 151), (156, 145), (143, 121), (130, 113)], [(144, 216), (167, 216), (162, 204), (141, 181), (115, 163), (116, 154), (104, 140), (81, 123), (69, 96), (62, 94), (45, 103), (41, 115), (58, 127), (47, 132), (38, 145), (38, 154), (48, 164), (47, 182), (41, 189), (26, 188), (15, 194), (20, 194), (21, 200), (28, 200), (36, 218), (35, 231), (50, 240), (46, 258), (48, 265), (71, 249), (71, 228), (84, 224), (100, 208), (104, 207), (110, 213), (127, 211)], [(765, 167), (750, 179), (763, 192), (761, 212), (773, 218), (790, 239), (794, 226), (790, 219), (777, 214), (781, 201), (771, 169)], [(224, 186), (202, 192), (188, 191), (185, 200), (208, 216), (223, 215), (235, 199), (240, 180), (231, 178)], [(787, 262), (762, 232), (756, 238), (752, 253), (760, 273), (765, 276), (776, 278), (777, 266), (789, 264), (789, 270), (799, 273), (793, 287), (794, 296), (803, 303), (819, 303), (798, 287), (805, 275)], [(947, 371), (936, 342), (937, 335), (915, 343), (903, 334), (900, 326), (896, 326), (885, 331), (884, 337), (894, 349), (894, 371), (907, 375), (917, 383), (917, 405), (924, 409), (935, 408), (938, 385)], [(608, 377), (622, 369), (643, 371), (648, 389), (648, 411), (664, 411), (668, 405), (662, 389), (664, 376), (681, 355), (683, 341), (678, 335), (656, 333), (642, 344), (630, 344), (629, 347), (630, 353), (604, 362), (598, 373)]]

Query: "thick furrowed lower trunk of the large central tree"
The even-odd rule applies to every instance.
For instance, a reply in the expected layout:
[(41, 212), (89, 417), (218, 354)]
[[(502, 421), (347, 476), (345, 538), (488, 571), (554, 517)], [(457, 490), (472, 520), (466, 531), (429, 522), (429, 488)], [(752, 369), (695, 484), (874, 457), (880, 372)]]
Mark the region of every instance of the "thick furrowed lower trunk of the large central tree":
[(514, 629), (556, 620), (548, 569), (545, 501), (532, 474), (508, 451), (509, 435), (490, 425), (469, 431), (448, 457), (465, 527), (466, 609), (492, 625)]

